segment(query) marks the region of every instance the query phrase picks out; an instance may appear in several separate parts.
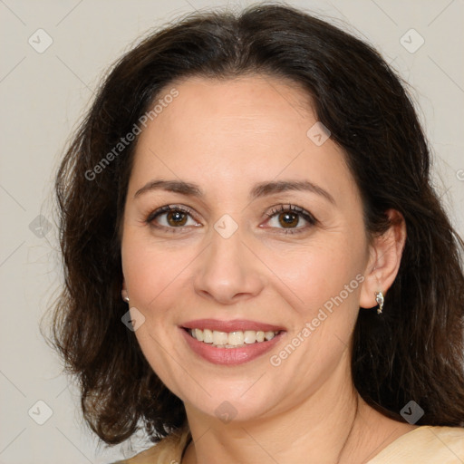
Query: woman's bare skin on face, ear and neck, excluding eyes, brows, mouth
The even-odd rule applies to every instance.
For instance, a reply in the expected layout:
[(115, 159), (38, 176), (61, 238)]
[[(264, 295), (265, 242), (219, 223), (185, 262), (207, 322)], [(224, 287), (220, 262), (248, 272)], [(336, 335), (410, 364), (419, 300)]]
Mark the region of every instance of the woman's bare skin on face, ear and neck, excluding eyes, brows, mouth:
[[(414, 428), (362, 401), (350, 372), (359, 308), (375, 306), (374, 292), (391, 286), (404, 222), (390, 211), (399, 223), (368, 239), (343, 151), (331, 139), (317, 146), (308, 138), (317, 119), (295, 84), (249, 75), (189, 78), (175, 87), (179, 97), (138, 140), (121, 252), (123, 295), (145, 317), (136, 331), (140, 347), (186, 407), (193, 442), (183, 462), (367, 462)], [(204, 195), (136, 195), (154, 179), (195, 183)], [(295, 190), (248, 198), (258, 182), (290, 179), (311, 181), (333, 203)], [(167, 214), (150, 224), (150, 213), (165, 205), (193, 214), (183, 228), (167, 222)], [(285, 234), (280, 212), (265, 214), (279, 205), (303, 208), (316, 222), (296, 215), (299, 232)], [(225, 214), (237, 224), (228, 238), (214, 228)], [(270, 356), (356, 275), (362, 283), (280, 365), (271, 365)], [(198, 357), (180, 336), (179, 325), (201, 318), (249, 319), (286, 333), (272, 353), (221, 366)], [(227, 423), (215, 413), (223, 401), (236, 410)]]

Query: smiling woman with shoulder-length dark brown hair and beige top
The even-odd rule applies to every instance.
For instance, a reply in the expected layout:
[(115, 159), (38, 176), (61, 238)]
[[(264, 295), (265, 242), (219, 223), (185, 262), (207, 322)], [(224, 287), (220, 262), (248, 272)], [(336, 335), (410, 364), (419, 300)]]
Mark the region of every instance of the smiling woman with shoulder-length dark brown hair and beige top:
[(57, 179), (92, 430), (160, 441), (129, 463), (462, 462), (463, 242), (429, 165), (380, 55), (291, 7), (123, 56)]

